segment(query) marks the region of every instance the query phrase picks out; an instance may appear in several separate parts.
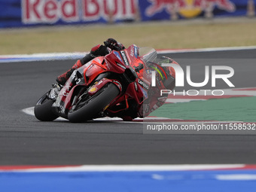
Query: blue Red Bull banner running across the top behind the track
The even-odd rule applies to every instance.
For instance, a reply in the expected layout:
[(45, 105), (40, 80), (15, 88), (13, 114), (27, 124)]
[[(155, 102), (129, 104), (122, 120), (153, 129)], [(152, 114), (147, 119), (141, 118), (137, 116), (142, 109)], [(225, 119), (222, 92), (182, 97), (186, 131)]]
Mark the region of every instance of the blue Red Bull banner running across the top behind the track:
[(256, 0), (1, 0), (0, 28), (255, 14)]

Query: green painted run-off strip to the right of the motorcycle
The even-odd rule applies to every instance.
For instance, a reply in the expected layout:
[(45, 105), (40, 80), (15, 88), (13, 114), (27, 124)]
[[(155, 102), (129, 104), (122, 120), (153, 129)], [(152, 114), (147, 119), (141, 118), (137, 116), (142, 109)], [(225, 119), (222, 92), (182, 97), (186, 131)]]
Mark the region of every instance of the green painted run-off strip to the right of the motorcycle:
[(256, 122), (256, 96), (165, 104), (152, 116), (184, 120)]

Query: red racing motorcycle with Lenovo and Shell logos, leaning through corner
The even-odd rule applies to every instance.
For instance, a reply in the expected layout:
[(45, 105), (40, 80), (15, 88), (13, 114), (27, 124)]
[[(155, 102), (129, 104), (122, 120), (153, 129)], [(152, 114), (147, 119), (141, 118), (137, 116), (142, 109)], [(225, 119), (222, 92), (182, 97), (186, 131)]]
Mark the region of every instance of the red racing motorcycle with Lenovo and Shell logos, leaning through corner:
[[(63, 87), (53, 87), (35, 105), (35, 117), (52, 121), (64, 117), (71, 122), (85, 122), (97, 117), (139, 117), (151, 90), (151, 65), (157, 51), (131, 45), (98, 56), (76, 69)], [(175, 78), (171, 76), (172, 84)]]

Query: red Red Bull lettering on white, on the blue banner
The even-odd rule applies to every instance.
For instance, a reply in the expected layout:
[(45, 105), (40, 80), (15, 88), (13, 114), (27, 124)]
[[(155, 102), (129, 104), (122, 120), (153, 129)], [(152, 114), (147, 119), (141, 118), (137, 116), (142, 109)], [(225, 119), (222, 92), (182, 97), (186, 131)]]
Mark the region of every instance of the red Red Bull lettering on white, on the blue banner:
[(22, 21), (26, 24), (66, 23), (133, 19), (136, 0), (22, 0)]

